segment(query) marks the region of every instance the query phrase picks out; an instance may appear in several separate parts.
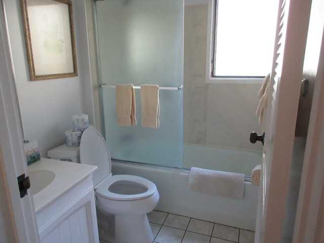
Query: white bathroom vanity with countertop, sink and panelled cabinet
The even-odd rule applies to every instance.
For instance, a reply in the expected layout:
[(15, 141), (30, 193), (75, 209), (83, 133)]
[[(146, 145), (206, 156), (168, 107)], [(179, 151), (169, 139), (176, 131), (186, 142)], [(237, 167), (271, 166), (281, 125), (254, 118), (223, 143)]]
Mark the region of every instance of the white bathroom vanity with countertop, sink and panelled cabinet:
[(99, 243), (95, 166), (41, 158), (28, 166), (41, 242)]

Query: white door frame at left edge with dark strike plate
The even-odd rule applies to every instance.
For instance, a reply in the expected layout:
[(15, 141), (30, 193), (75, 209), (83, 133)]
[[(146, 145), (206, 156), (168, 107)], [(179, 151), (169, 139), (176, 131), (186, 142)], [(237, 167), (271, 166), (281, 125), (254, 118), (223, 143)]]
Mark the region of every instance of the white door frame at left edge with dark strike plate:
[(0, 183), (5, 192), (1, 195), (0, 224), (6, 228), (0, 230), (0, 241), (34, 243), (39, 237), (32, 194), (20, 198), (17, 182), (17, 177), (28, 171), (2, 1), (0, 31)]

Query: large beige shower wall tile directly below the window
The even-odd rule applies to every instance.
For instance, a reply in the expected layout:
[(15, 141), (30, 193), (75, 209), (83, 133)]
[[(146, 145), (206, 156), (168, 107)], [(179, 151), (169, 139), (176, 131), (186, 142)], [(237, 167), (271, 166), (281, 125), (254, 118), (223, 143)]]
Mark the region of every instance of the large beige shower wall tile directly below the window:
[(262, 150), (250, 143), (250, 133), (261, 133), (255, 115), (261, 85), (210, 85), (208, 90), (207, 144)]

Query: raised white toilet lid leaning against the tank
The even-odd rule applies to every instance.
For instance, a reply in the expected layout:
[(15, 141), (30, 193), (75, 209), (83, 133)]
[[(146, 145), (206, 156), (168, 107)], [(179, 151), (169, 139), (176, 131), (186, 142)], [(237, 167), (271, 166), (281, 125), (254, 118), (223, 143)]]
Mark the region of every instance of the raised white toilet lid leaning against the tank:
[(94, 185), (111, 175), (109, 148), (104, 138), (95, 128), (87, 128), (81, 136), (80, 164), (98, 167), (93, 173)]

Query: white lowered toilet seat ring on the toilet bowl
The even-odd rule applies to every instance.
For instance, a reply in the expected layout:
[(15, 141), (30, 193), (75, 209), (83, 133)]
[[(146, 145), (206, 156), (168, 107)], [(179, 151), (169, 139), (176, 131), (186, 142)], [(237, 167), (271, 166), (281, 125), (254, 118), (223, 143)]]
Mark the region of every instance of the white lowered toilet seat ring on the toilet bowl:
[[(118, 183), (121, 185), (127, 184), (129, 186), (140, 187), (143, 192), (137, 194), (120, 194), (109, 190), (111, 185), (116, 184), (118, 186)], [(156, 186), (153, 182), (139, 176), (131, 175), (115, 175), (106, 178), (98, 185), (96, 190), (98, 195), (111, 200), (138, 200), (150, 197), (155, 192)]]

